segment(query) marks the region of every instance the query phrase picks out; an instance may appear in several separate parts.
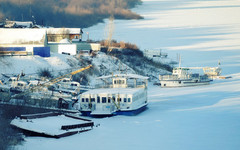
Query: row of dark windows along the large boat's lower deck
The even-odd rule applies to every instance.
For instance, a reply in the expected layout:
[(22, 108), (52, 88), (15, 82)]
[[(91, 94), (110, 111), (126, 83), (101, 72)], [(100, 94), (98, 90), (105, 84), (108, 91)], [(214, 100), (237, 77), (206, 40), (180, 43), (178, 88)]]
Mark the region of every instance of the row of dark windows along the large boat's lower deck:
[[(112, 101), (114, 102), (124, 102), (124, 103), (130, 103), (131, 98), (115, 98), (115, 97), (97, 97), (97, 103), (111, 103)], [(95, 102), (95, 98), (82, 98), (82, 102)]]

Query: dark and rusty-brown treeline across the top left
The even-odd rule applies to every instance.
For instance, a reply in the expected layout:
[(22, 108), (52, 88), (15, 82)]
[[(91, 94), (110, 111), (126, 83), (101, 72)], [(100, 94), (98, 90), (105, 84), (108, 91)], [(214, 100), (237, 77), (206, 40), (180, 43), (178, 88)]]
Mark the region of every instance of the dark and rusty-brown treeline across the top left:
[(89, 27), (114, 16), (141, 19), (130, 10), (141, 0), (0, 0), (0, 19), (54, 27)]

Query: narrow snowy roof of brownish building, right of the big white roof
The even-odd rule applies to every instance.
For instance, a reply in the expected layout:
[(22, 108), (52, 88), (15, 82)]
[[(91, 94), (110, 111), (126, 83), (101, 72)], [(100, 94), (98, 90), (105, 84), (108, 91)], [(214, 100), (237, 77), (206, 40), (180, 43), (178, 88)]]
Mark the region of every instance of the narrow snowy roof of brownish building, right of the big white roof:
[(47, 34), (82, 34), (81, 28), (47, 28)]

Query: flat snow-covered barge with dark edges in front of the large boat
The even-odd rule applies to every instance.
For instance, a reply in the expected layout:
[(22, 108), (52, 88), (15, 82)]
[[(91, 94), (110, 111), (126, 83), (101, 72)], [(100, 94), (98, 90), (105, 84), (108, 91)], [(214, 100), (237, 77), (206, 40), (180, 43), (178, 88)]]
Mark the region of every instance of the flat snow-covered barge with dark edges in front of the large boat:
[(13, 119), (12, 126), (45, 137), (61, 138), (93, 129), (94, 122), (62, 113), (21, 115)]

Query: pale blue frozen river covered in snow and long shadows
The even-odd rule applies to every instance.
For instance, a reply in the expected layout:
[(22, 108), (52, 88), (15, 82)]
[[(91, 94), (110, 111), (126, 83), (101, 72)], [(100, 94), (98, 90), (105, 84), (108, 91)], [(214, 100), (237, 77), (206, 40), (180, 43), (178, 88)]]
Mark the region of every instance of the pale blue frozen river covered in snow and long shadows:
[[(27, 137), (19, 149), (239, 150), (240, 1), (145, 0), (144, 20), (116, 20), (113, 39), (162, 49), (182, 66), (217, 66), (227, 80), (186, 88), (149, 85), (148, 109), (137, 116), (93, 119), (90, 132), (49, 139)], [(106, 24), (84, 29), (101, 40)], [(86, 38), (86, 37), (85, 37)]]

